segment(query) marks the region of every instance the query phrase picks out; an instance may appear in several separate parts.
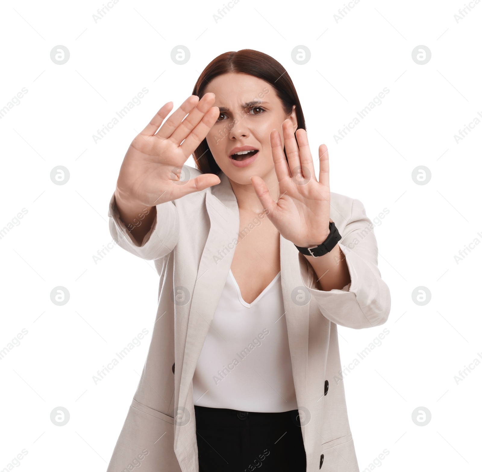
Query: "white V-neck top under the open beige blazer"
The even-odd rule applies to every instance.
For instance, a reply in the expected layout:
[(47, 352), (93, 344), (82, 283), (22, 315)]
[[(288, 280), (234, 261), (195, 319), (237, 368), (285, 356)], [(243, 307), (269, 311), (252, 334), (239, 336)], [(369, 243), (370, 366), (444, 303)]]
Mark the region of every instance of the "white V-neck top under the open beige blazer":
[(193, 399), (240, 411), (297, 409), (281, 272), (246, 303), (229, 270), (194, 372)]

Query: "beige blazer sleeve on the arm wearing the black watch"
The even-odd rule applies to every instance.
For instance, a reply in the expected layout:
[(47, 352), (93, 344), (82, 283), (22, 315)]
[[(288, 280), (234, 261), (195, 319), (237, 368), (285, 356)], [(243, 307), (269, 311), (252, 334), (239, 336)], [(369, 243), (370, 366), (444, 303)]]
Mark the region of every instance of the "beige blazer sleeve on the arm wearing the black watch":
[(351, 277), (351, 282), (343, 289), (318, 290), (316, 272), (306, 257), (298, 254), (301, 277), (311, 298), (325, 318), (341, 326), (370, 328), (388, 319), (390, 291), (378, 270), (378, 247), (373, 229), (362, 202), (354, 199), (351, 216), (338, 242)]

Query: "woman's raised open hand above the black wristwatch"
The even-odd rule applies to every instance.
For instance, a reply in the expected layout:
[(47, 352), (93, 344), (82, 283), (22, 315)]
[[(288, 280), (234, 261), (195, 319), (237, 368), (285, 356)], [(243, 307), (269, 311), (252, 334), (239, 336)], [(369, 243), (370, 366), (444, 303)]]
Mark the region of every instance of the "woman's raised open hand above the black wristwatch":
[(330, 233), (328, 149), (324, 144), (318, 149), (320, 174), (317, 181), (306, 131), (296, 131), (298, 148), (292, 122), (283, 121), (281, 128), (288, 162), (281, 146), (280, 133), (273, 130), (269, 135), (280, 197), (275, 202), (266, 183), (257, 175), (251, 177), (251, 183), (269, 220), (283, 238), (300, 247), (318, 245)]

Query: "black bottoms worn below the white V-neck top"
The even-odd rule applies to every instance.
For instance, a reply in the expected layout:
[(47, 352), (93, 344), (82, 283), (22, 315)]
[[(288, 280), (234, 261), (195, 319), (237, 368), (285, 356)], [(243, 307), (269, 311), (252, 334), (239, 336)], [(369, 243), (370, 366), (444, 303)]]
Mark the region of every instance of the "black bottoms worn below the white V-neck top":
[(298, 410), (258, 413), (194, 405), (200, 472), (306, 472)]

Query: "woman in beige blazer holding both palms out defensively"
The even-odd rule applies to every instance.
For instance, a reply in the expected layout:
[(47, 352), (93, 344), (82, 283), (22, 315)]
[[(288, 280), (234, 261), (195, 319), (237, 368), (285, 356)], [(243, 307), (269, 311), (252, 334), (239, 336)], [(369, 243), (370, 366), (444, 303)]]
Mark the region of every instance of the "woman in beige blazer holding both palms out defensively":
[(362, 202), (330, 192), (325, 145), (316, 178), (267, 54), (221, 54), (166, 120), (172, 107), (135, 137), (109, 206), (160, 292), (108, 472), (358, 471), (336, 327), (390, 311)]

